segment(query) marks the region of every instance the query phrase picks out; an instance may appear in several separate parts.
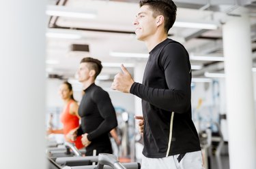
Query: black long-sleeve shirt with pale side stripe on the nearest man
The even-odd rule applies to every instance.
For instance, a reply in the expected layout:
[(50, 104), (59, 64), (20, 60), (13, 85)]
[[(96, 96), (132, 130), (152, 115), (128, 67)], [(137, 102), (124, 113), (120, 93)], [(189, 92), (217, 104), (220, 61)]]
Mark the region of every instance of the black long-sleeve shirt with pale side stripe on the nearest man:
[(150, 52), (143, 84), (130, 93), (142, 99), (146, 157), (167, 157), (201, 150), (191, 119), (191, 68), (183, 45), (166, 39)]

